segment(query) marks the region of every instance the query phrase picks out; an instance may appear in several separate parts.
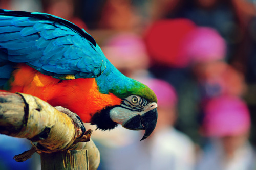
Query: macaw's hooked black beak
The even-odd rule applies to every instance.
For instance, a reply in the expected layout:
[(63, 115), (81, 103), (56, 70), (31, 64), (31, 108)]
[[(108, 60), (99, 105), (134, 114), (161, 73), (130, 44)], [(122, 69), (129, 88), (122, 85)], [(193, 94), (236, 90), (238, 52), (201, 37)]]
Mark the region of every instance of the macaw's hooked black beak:
[(157, 109), (148, 111), (142, 115), (137, 115), (127, 120), (123, 127), (130, 130), (145, 130), (141, 140), (146, 139), (153, 132), (157, 124)]

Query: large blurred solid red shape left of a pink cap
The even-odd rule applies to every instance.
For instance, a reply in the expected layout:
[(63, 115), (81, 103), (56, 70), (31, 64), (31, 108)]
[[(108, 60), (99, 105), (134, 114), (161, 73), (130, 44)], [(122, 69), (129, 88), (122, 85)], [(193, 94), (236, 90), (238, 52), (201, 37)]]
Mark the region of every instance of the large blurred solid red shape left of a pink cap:
[(145, 35), (147, 51), (153, 61), (170, 67), (186, 67), (188, 56), (181, 57), (183, 38), (196, 28), (189, 19), (166, 19), (153, 23)]

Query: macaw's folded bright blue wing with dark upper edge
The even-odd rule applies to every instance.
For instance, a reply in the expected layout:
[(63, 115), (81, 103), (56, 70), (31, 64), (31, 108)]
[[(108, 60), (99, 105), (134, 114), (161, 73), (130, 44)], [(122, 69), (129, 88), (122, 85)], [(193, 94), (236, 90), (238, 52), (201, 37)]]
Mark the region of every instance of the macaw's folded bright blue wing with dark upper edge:
[(8, 60), (55, 78), (93, 78), (106, 67), (95, 40), (73, 23), (40, 12), (0, 9), (0, 62)]

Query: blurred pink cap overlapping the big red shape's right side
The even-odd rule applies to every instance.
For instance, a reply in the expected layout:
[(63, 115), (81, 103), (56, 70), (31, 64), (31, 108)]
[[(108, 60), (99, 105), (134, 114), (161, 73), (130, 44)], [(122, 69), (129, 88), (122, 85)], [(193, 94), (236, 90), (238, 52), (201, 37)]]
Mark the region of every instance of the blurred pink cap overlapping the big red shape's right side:
[(227, 45), (220, 33), (210, 27), (197, 27), (182, 39), (181, 56), (187, 56), (190, 64), (225, 60)]

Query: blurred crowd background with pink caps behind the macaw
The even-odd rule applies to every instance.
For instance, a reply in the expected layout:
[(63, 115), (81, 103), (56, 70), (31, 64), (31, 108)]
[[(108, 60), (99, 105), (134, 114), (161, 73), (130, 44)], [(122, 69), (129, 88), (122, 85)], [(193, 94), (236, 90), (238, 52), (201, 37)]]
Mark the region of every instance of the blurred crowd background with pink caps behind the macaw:
[[(0, 8), (75, 23), (155, 91), (159, 119), (146, 140), (120, 126), (93, 132), (99, 169), (256, 169), (256, 1), (0, 0)], [(28, 141), (6, 138), (0, 169), (40, 169), (35, 155), (12, 160)]]

